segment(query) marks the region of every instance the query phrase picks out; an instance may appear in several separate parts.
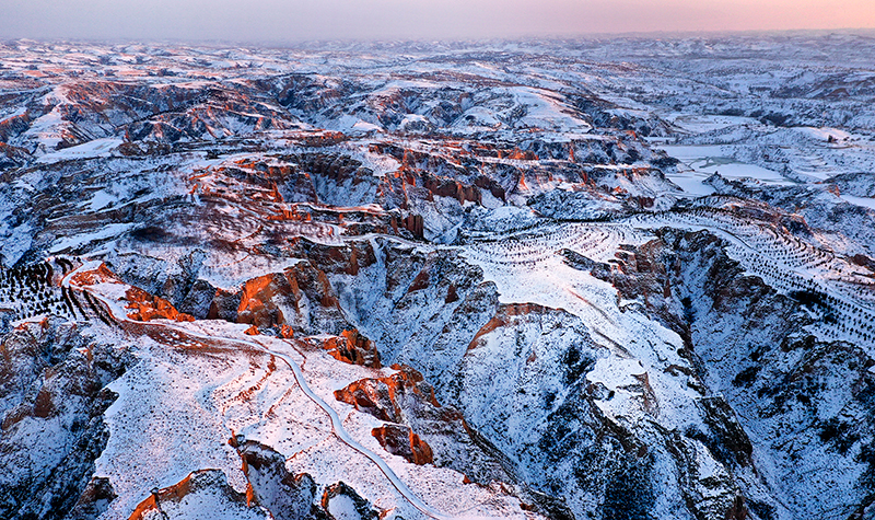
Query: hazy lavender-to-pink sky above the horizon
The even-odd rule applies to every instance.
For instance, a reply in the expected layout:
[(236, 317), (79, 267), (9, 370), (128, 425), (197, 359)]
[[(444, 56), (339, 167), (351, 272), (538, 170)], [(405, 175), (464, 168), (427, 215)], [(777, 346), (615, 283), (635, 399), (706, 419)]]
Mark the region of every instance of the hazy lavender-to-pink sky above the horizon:
[(455, 39), (873, 28), (875, 0), (0, 0), (0, 37)]

